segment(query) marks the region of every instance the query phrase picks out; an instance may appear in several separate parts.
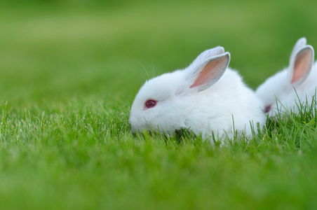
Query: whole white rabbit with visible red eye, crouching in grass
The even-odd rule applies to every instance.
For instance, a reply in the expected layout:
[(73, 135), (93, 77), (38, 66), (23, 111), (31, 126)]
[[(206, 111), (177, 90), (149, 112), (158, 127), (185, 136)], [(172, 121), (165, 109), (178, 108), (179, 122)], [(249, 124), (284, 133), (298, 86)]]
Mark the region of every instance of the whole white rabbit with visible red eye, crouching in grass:
[[(227, 69), (230, 54), (224, 48), (205, 50), (186, 69), (148, 80), (130, 111), (133, 132), (153, 130), (173, 134), (189, 129), (204, 139), (220, 139), (257, 132), (266, 115), (255, 92), (236, 71)], [(226, 71), (227, 69), (227, 71)], [(217, 140), (217, 139), (216, 139)]]

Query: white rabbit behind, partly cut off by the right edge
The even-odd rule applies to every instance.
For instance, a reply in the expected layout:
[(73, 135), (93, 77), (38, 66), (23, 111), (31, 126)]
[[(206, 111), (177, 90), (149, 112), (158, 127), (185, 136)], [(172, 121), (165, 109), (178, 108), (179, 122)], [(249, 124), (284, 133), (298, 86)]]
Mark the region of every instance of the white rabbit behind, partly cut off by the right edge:
[(311, 105), (317, 85), (313, 57), (313, 48), (306, 45), (306, 38), (299, 38), (290, 55), (289, 66), (265, 80), (255, 91), (264, 102), (264, 112), (269, 116), (290, 111), (299, 113), (300, 104), (306, 104), (306, 97), (308, 105)]

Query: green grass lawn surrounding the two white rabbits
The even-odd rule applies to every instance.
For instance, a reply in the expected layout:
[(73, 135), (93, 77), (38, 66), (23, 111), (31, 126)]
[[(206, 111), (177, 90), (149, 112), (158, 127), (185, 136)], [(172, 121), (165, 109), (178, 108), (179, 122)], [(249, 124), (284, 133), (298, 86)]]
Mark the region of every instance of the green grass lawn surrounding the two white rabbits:
[[(0, 209), (316, 209), (317, 120), (253, 139), (137, 135), (144, 78), (222, 45), (250, 87), (288, 65), (315, 1), (8, 1), (0, 6)], [(248, 143), (247, 143), (248, 142)]]

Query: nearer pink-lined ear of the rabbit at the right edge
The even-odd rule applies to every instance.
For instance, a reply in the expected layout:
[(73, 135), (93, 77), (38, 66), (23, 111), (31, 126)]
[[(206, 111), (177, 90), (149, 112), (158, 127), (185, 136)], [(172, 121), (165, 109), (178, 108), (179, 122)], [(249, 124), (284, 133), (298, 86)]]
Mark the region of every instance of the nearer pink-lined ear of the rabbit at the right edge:
[(296, 53), (290, 61), (290, 83), (299, 85), (307, 78), (313, 66), (313, 58), (314, 52), (311, 45), (306, 45)]

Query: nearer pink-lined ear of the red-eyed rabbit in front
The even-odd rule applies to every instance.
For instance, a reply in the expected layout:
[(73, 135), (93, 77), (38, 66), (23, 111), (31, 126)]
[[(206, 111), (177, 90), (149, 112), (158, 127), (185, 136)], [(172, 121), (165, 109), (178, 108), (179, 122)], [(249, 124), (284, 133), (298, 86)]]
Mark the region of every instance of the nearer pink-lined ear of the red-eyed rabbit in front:
[[(198, 57), (200, 56), (201, 55)], [(189, 66), (189, 69), (187, 70), (187, 78), (189, 80), (189, 84), (191, 84), (190, 88), (198, 87), (198, 92), (200, 92), (207, 89), (208, 87), (211, 87), (217, 82), (217, 80), (221, 78), (222, 74), (224, 74), (224, 71), (228, 67), (229, 61), (229, 52), (224, 52), (220, 55), (205, 59), (205, 61), (201, 62), (200, 64)]]

